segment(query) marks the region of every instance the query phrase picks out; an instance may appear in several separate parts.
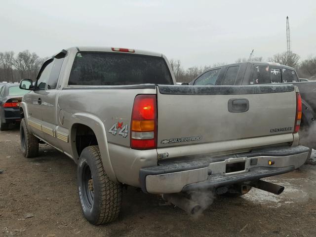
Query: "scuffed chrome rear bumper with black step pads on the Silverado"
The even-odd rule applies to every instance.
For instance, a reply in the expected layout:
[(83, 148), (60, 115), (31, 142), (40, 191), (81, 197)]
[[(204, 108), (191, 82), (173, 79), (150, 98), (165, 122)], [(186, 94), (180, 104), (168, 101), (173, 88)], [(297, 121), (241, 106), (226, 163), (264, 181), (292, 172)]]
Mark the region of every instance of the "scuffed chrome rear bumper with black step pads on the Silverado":
[[(282, 147), (254, 150), (226, 157), (179, 158), (140, 170), (141, 188), (146, 193), (170, 194), (207, 190), (242, 184), (290, 172), (310, 156), (307, 147)], [(269, 160), (273, 164), (269, 165)], [(228, 164), (242, 164), (242, 170), (229, 172)]]

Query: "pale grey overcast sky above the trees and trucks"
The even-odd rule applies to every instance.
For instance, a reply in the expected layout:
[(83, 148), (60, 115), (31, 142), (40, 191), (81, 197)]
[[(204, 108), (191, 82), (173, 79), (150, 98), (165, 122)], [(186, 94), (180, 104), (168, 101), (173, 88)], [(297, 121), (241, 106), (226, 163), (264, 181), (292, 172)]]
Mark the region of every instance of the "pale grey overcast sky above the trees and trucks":
[(316, 56), (316, 0), (0, 0), (0, 51), (40, 57), (71, 46), (144, 49), (184, 67), (271, 57)]

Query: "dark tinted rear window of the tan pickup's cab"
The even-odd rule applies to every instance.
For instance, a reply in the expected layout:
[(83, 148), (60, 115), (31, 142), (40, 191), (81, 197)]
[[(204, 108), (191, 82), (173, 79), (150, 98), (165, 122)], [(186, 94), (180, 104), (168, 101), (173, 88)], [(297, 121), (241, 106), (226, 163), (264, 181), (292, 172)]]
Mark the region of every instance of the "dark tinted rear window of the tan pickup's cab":
[(79, 52), (69, 85), (173, 84), (162, 57), (109, 52)]

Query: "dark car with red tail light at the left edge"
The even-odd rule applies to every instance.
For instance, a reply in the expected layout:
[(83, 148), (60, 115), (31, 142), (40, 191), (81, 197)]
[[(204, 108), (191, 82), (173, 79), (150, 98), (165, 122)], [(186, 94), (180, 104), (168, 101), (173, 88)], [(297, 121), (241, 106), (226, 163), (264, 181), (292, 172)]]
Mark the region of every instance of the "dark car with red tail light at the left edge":
[(7, 130), (10, 123), (20, 121), (19, 104), (27, 90), (22, 90), (19, 85), (0, 85), (0, 130)]

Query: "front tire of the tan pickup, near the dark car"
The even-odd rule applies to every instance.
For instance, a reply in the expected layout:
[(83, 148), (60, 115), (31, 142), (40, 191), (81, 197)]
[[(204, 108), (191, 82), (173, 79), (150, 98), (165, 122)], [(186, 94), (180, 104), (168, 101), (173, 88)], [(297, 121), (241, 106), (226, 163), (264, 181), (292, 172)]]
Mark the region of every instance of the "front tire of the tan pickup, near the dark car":
[(39, 155), (39, 139), (30, 133), (25, 118), (20, 123), (21, 150), (25, 158), (37, 157)]

